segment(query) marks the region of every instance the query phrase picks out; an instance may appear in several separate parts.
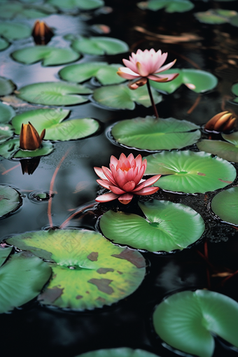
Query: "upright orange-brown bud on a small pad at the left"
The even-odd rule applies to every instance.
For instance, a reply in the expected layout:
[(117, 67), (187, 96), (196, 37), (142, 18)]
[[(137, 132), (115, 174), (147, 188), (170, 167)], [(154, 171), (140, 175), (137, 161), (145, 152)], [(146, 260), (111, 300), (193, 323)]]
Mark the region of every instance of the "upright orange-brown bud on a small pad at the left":
[(45, 137), (45, 129), (42, 131), (41, 136), (34, 128), (34, 126), (29, 124), (22, 124), (20, 131), (20, 148), (22, 150), (36, 150), (41, 146), (42, 140)]

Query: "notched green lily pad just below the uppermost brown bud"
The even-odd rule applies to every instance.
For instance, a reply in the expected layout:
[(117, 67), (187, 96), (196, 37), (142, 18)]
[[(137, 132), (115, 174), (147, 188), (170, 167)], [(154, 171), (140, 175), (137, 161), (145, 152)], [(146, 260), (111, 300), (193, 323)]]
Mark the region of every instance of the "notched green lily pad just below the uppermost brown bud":
[(76, 61), (80, 55), (70, 48), (56, 48), (44, 45), (22, 48), (12, 53), (13, 58), (25, 64), (42, 61), (43, 66), (57, 66)]

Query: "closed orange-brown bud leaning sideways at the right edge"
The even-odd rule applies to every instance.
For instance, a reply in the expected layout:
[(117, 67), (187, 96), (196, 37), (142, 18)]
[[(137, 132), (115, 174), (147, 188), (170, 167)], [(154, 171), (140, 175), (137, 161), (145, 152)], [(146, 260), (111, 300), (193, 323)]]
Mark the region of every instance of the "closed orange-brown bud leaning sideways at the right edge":
[(236, 118), (229, 111), (222, 111), (212, 117), (204, 127), (207, 132), (230, 132), (235, 125)]

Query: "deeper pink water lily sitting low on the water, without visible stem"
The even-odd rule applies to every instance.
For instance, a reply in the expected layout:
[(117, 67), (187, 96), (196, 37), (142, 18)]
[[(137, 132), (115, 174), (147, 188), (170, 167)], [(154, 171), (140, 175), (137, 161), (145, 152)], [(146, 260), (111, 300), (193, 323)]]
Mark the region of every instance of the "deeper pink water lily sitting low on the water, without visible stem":
[(97, 183), (111, 193), (96, 198), (97, 202), (109, 202), (118, 200), (123, 204), (131, 202), (133, 195), (151, 195), (158, 191), (158, 187), (148, 187), (153, 185), (161, 175), (155, 175), (151, 179), (142, 180), (146, 171), (147, 160), (142, 161), (141, 155), (134, 158), (132, 154), (128, 157), (121, 154), (119, 160), (111, 156), (110, 169), (108, 167), (94, 167), (94, 171), (101, 180)]

